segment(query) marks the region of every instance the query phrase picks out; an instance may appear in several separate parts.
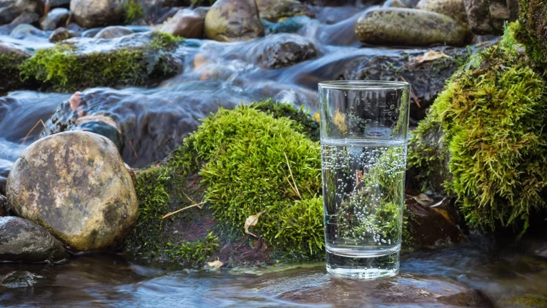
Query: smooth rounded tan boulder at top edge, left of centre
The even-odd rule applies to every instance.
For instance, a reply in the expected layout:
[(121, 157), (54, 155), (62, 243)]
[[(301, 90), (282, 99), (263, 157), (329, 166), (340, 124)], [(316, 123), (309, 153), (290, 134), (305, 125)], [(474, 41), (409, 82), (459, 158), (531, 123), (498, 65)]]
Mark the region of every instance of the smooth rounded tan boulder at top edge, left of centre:
[(205, 16), (205, 36), (215, 41), (249, 41), (264, 36), (254, 0), (219, 0)]

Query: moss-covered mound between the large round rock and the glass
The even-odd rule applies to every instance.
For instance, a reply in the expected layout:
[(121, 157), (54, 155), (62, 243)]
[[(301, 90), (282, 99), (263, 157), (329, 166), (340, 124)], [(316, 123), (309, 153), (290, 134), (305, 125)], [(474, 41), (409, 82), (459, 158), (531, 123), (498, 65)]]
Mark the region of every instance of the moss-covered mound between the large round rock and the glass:
[[(303, 109), (270, 100), (220, 109), (205, 119), (165, 162), (137, 174), (140, 216), (126, 249), (194, 266), (216, 257), (231, 266), (323, 259), (314, 121)], [(201, 202), (202, 209), (161, 219)], [(250, 228), (259, 238), (245, 234), (246, 219), (263, 211)], [(190, 254), (188, 247), (201, 253)]]

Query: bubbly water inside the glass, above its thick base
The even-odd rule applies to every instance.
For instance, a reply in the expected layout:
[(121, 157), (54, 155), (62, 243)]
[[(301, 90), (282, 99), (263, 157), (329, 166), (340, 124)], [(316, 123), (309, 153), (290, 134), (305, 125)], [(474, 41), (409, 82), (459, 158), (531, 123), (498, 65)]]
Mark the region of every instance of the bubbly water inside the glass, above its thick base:
[(400, 243), (406, 145), (323, 142), (321, 157), (327, 244)]

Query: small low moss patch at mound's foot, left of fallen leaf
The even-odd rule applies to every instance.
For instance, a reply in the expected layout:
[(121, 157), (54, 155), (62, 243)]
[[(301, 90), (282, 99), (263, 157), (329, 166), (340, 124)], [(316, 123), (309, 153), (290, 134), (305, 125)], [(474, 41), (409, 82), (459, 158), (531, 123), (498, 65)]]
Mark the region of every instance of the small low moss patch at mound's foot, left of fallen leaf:
[(195, 242), (168, 245), (172, 248), (169, 250), (172, 259), (181, 260), (187, 266), (201, 267), (216, 253), (219, 248), (219, 237), (215, 237), (211, 232)]

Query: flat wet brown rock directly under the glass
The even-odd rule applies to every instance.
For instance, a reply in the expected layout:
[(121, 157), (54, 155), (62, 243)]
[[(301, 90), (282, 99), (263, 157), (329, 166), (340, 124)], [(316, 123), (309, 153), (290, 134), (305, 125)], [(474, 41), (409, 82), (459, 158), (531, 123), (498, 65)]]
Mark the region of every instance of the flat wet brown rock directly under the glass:
[(298, 304), (340, 307), (492, 307), (482, 294), (453, 279), (401, 273), (363, 282), (329, 277), (324, 269), (293, 269), (247, 279), (261, 293)]

